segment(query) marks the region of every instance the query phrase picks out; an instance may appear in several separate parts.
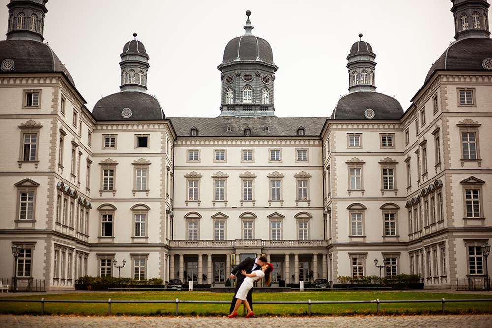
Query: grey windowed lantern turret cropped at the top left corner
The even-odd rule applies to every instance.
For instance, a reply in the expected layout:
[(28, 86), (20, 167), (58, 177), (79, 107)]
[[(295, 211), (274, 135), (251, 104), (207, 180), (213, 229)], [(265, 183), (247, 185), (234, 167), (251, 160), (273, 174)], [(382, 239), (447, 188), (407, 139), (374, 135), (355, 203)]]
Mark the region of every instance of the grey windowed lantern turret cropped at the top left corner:
[(43, 42), (46, 2), (48, 0), (10, 0), (7, 40)]

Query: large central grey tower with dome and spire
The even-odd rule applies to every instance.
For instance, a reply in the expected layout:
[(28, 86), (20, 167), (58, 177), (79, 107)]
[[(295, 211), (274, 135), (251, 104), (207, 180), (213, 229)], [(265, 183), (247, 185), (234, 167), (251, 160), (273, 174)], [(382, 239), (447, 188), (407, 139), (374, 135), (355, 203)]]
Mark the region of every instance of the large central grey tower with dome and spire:
[(270, 44), (251, 33), (253, 26), (246, 11), (243, 36), (229, 41), (222, 63), (221, 116), (274, 116), (275, 65)]

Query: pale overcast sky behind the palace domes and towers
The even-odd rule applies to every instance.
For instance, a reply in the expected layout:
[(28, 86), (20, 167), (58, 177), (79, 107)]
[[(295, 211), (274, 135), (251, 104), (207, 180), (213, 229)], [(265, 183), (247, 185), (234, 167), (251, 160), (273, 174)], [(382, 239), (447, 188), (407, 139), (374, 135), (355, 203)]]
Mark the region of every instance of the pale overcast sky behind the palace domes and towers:
[[(0, 0), (7, 32), (9, 0)], [(44, 38), (92, 111), (119, 92), (120, 53), (138, 34), (150, 56), (148, 93), (166, 116), (220, 114), (224, 48), (245, 30), (272, 46), (278, 117), (328, 116), (348, 93), (346, 57), (368, 42), (377, 92), (406, 111), (435, 60), (454, 41), (450, 0), (50, 0)], [(2, 38), (5, 39), (5, 36)]]

